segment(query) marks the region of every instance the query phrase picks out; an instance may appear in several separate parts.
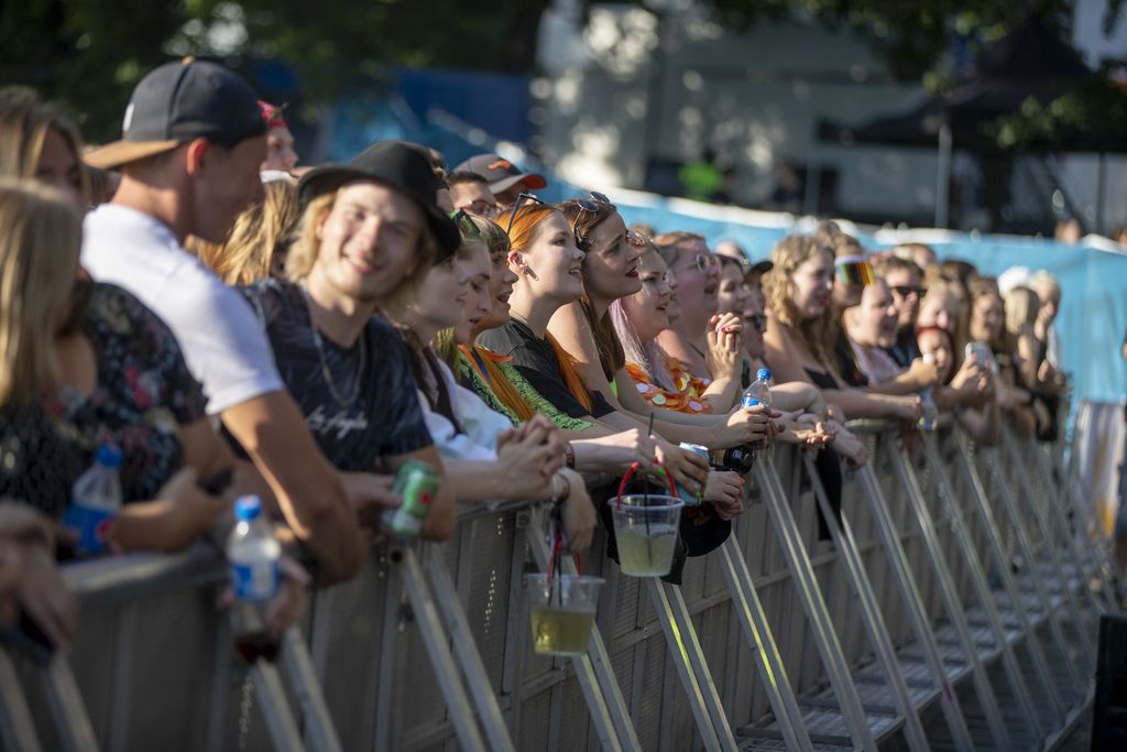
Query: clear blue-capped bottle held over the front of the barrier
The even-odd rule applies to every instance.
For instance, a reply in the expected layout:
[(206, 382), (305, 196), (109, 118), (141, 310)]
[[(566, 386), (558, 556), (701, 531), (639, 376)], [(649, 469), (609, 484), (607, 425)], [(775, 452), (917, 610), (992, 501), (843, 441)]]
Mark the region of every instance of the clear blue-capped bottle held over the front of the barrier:
[(231, 611), (234, 646), (247, 662), (277, 657), (278, 643), (266, 629), (266, 604), (278, 591), (282, 547), (263, 516), (257, 496), (234, 502), (234, 529), (227, 539), (227, 560), (234, 591)]

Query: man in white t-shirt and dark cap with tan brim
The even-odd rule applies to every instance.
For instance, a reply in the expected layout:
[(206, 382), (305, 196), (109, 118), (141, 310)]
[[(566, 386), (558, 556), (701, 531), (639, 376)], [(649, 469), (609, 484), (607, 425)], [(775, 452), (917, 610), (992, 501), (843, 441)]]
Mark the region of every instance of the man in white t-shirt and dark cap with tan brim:
[[(137, 83), (122, 132), (87, 154), (94, 167), (118, 168), (122, 184), (86, 218), (83, 267), (132, 292), (172, 329), (207, 412), (250, 454), (322, 576), (352, 577), (363, 545), (344, 484), (285, 391), (254, 311), (183, 247), (189, 233), (222, 242), (239, 213), (261, 200), (258, 96), (221, 65), (168, 63)], [(350, 490), (356, 503), (387, 496), (360, 484)]]

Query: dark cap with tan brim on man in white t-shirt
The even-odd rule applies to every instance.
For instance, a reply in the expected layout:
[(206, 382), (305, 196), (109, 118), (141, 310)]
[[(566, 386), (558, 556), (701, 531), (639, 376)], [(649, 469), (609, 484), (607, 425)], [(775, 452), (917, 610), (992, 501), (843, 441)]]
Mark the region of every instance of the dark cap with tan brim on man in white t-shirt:
[(201, 138), (233, 147), (266, 133), (258, 99), (249, 83), (218, 63), (193, 57), (166, 63), (133, 89), (121, 141), (90, 150), (83, 160), (112, 169)]

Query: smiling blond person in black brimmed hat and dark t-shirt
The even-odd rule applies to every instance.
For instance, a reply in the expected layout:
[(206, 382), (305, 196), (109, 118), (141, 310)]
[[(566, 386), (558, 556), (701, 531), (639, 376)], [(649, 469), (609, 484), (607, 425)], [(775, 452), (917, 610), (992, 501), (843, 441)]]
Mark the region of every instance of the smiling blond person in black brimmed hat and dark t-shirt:
[[(435, 201), (438, 185), (426, 158), (396, 141), (347, 165), (310, 170), (298, 184), (302, 215), (286, 257), (291, 281), (243, 290), (305, 424), (338, 470), (393, 472), (418, 460), (442, 474), (412, 398), (411, 355), (378, 316), (381, 303), (414, 294), (431, 266), (458, 250), (458, 229)], [(454, 517), (443, 483), (421, 534), (449, 537)]]

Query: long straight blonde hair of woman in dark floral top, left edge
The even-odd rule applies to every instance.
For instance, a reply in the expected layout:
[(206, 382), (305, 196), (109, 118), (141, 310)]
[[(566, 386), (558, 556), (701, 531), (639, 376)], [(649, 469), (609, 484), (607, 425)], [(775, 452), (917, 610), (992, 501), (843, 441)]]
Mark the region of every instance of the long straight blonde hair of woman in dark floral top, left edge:
[(54, 342), (78, 278), (82, 219), (57, 191), (0, 176), (0, 405), (57, 383)]

